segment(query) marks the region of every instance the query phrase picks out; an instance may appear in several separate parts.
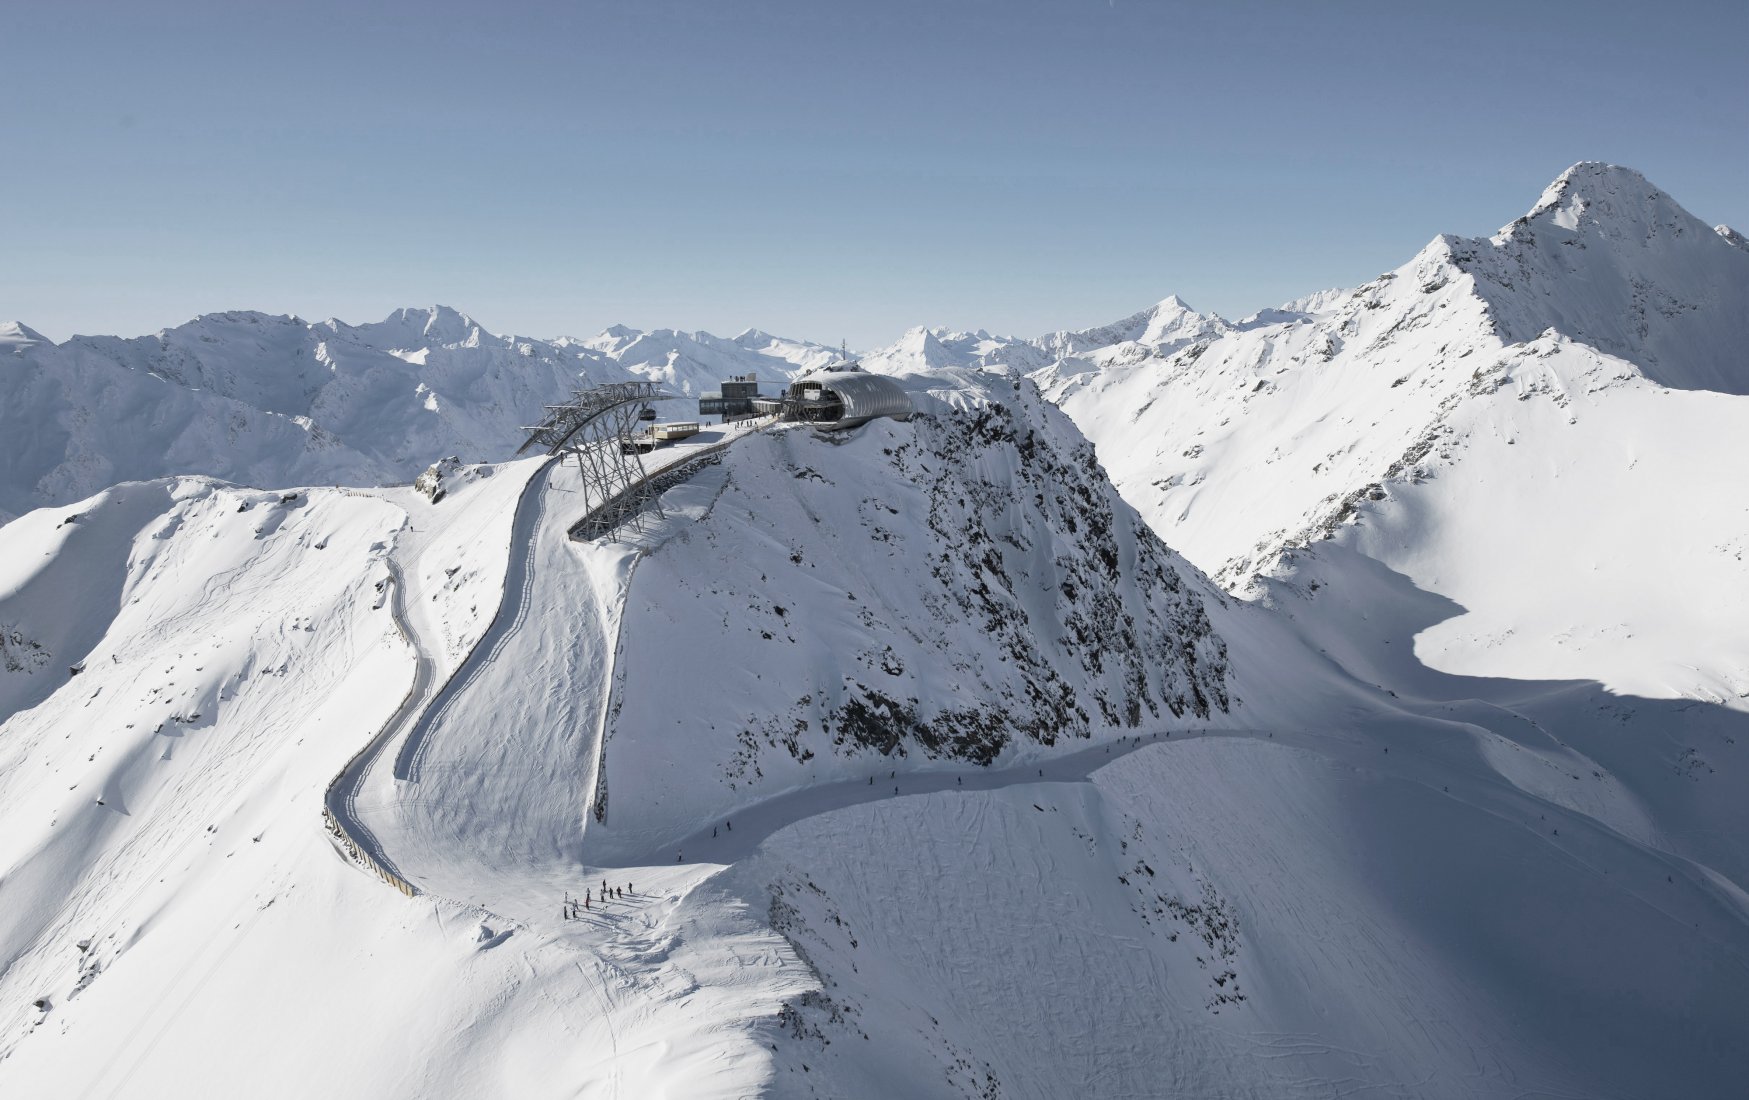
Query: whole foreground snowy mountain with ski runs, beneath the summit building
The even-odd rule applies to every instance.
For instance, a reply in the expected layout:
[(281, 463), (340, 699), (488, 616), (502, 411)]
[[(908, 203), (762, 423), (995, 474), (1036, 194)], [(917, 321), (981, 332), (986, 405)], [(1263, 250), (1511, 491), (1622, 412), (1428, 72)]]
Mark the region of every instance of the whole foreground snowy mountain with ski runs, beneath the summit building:
[[(1415, 672), (1413, 586), (1233, 602), (1030, 383), (904, 383), (911, 423), (700, 441), (626, 540), (570, 542), (542, 460), (437, 504), (182, 479), (0, 530), (42, 654), (0, 726), (0, 1088), (1740, 1076), (1740, 714)], [(432, 703), (346, 810), (406, 899), (318, 811), (418, 659)]]

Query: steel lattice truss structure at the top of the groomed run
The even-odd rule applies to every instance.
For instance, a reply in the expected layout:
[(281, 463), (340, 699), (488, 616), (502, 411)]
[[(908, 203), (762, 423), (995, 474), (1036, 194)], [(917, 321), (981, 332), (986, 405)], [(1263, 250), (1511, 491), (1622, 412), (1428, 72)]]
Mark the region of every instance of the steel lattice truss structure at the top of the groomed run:
[(582, 474), (584, 516), (572, 528), (574, 539), (600, 539), (630, 523), (642, 530), (645, 505), (654, 498), (640, 448), (631, 442), (638, 413), (654, 400), (673, 400), (652, 381), (612, 381), (586, 386), (570, 400), (547, 406), (539, 425), (525, 428), (528, 442), (518, 455), (539, 448), (547, 455), (577, 460)]

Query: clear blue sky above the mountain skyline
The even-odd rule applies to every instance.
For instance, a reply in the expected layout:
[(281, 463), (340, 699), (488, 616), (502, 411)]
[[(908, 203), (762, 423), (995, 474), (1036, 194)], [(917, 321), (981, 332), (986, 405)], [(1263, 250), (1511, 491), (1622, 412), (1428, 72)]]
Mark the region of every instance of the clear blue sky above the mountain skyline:
[[(353, 9), (373, 9), (359, 12)], [(1567, 164), (1749, 227), (1746, 3), (0, 5), (0, 318), (1238, 317)]]

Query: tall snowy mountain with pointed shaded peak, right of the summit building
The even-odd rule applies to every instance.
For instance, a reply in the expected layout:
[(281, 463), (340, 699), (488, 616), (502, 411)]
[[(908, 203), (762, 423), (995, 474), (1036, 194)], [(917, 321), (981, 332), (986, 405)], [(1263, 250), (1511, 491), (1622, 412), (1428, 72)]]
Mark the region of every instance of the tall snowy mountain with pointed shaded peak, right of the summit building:
[(1494, 238), (1034, 378), (1223, 584), (1340, 535), (1466, 609), (1417, 640), (1438, 668), (1726, 700), (1749, 691), (1749, 490), (1719, 476), (1749, 437), (1744, 348), (1749, 254), (1578, 164)]

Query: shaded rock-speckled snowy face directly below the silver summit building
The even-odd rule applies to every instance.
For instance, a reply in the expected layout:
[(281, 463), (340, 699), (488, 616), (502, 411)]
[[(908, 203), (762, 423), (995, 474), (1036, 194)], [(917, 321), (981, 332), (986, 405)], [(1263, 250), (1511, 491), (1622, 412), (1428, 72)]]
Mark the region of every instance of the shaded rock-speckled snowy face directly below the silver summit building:
[[(738, 806), (899, 764), (1007, 764), (1228, 710), (1219, 595), (1062, 414), (1025, 383), (906, 381), (909, 423), (736, 446), (698, 479), (708, 516), (638, 567), (598, 852), (666, 852)], [(672, 707), (675, 670), (703, 714)]]

